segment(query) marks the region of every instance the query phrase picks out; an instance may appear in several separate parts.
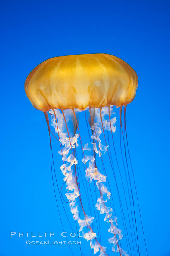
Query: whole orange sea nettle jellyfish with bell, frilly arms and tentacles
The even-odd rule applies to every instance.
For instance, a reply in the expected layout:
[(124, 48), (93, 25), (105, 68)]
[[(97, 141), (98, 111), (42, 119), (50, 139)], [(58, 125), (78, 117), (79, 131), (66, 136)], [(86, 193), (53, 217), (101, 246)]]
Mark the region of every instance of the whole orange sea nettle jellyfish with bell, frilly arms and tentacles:
[[(112, 251), (118, 252), (120, 256), (140, 255), (134, 207), (134, 195), (137, 198), (137, 193), (132, 166), (132, 180), (128, 167), (128, 162), (131, 163), (131, 160), (125, 121), (126, 106), (133, 101), (137, 86), (138, 76), (125, 61), (113, 55), (100, 53), (50, 58), (35, 67), (25, 81), (27, 97), (36, 109), (44, 112), (48, 125), (56, 201), (60, 196), (65, 213), (66, 206), (69, 204), (77, 233), (80, 232), (89, 241), (93, 255), (96, 253), (100, 256), (110, 255)], [(122, 178), (113, 139), (116, 130), (113, 106), (120, 107), (118, 136), (122, 137), (120, 154), (125, 181)], [(122, 121), (123, 106), (124, 120)], [(49, 117), (51, 117), (51, 128)], [(86, 134), (89, 134), (89, 139)], [(56, 171), (54, 167), (51, 135), (60, 145), (58, 153), (63, 161), (60, 170), (66, 185), (65, 198), (62, 195), (62, 188), (58, 186), (58, 170)], [(84, 142), (85, 138), (87, 141)], [(110, 142), (112, 142), (112, 148)], [(104, 159), (106, 155), (107, 162)], [(97, 167), (99, 160), (101, 160), (100, 170)], [(117, 166), (116, 170), (114, 164)], [(113, 176), (108, 179), (107, 175), (110, 173)], [(117, 182), (118, 175), (121, 186)], [(56, 194), (55, 187), (58, 189), (59, 196)], [(112, 193), (115, 189), (116, 192)], [(121, 189), (122, 192), (120, 192)], [(83, 200), (85, 196), (86, 199)], [(122, 215), (126, 248), (121, 245), (123, 233), (118, 228), (116, 197), (120, 207), (119, 213), (121, 212)], [(122, 197), (125, 205), (122, 203)], [(68, 204), (64, 205), (65, 202)], [(140, 213), (139, 204), (137, 205)], [(60, 209), (58, 210), (60, 214)], [(101, 217), (98, 211), (102, 216), (104, 214), (106, 232), (108, 230), (111, 234), (108, 239), (111, 245), (107, 248), (101, 242), (104, 226), (101, 232)], [(67, 215), (65, 218), (68, 219)], [(63, 226), (61, 216), (60, 220)], [(71, 253), (74, 255), (74, 251), (71, 250)], [(80, 247), (80, 255), (87, 254)]]

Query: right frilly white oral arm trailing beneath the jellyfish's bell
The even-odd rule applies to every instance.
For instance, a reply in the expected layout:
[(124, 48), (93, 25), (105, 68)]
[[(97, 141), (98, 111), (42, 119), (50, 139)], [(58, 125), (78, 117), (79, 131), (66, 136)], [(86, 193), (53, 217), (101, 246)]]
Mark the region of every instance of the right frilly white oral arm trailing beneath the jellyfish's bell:
[[(107, 108), (103, 108), (103, 116), (108, 115)], [(97, 116), (98, 109), (95, 111), (95, 117)], [(113, 114), (113, 113), (111, 113)], [(99, 114), (100, 116), (100, 114)], [(97, 118), (96, 118), (97, 119)], [(86, 169), (86, 179), (90, 177), (90, 181), (96, 180), (97, 188), (100, 192), (100, 197), (97, 199), (96, 208), (98, 211), (100, 211), (100, 214), (105, 214), (104, 221), (110, 223), (109, 232), (113, 233), (113, 237), (111, 237), (108, 241), (109, 243), (113, 243), (112, 250), (116, 251), (115, 246), (117, 246), (120, 255), (127, 256), (126, 252), (122, 250), (122, 248), (119, 246), (118, 241), (122, 239), (123, 234), (122, 230), (118, 229), (117, 226), (117, 218), (115, 216), (112, 216), (113, 209), (111, 207), (106, 206), (107, 201), (111, 198), (111, 193), (108, 191), (107, 187), (104, 185), (104, 182), (106, 182), (106, 175), (100, 173), (98, 170), (96, 163), (95, 163), (95, 157), (94, 152), (101, 157), (101, 152), (107, 151), (107, 146), (104, 146), (101, 144), (100, 135), (102, 133), (101, 128), (104, 127), (105, 130), (111, 131), (110, 122), (112, 125), (112, 130), (115, 131), (115, 122), (116, 118), (112, 118), (110, 120), (104, 120), (104, 123), (101, 125), (101, 121), (95, 122), (91, 125), (91, 130), (95, 130), (95, 132), (92, 134), (91, 138), (95, 141), (97, 141), (97, 145), (95, 142), (91, 142), (92, 145), (85, 144), (83, 150), (91, 151), (93, 150), (93, 155), (85, 155), (85, 157), (82, 159), (82, 162), (85, 164), (89, 161), (89, 167)]]

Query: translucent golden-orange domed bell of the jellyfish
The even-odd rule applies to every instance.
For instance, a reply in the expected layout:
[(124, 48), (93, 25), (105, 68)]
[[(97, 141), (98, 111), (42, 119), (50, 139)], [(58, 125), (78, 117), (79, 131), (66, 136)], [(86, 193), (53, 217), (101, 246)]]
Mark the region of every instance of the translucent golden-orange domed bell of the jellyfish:
[(47, 112), (127, 105), (134, 99), (137, 86), (138, 76), (125, 61), (97, 53), (42, 62), (27, 76), (25, 92), (35, 108)]

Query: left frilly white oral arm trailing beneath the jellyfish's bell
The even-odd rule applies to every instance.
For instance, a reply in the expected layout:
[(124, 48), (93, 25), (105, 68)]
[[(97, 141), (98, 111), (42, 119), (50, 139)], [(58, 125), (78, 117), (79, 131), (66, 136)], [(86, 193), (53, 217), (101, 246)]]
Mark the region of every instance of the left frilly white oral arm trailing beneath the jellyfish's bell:
[[(73, 155), (73, 149), (78, 147), (77, 139), (79, 138), (79, 134), (76, 133), (76, 123), (73, 124), (73, 129), (70, 132), (67, 130), (66, 122), (70, 121), (70, 116), (72, 115), (69, 113), (71, 110), (65, 111), (65, 114), (61, 114), (59, 110), (51, 110), (49, 113), (51, 115), (51, 125), (55, 128), (55, 133), (58, 134), (59, 140), (63, 148), (58, 152), (62, 156), (63, 165), (61, 165), (60, 169), (63, 173), (64, 182), (66, 183), (66, 197), (69, 201), (70, 209), (73, 214), (73, 218), (75, 221), (79, 223), (79, 232), (82, 232), (83, 237), (89, 241), (90, 240), (90, 247), (93, 249), (94, 254), (100, 250), (100, 255), (107, 256), (105, 252), (105, 247), (102, 247), (100, 243), (96, 239), (96, 233), (93, 232), (91, 228), (91, 223), (94, 220), (94, 217), (88, 216), (82, 206), (81, 195), (79, 192), (79, 185), (77, 182), (76, 177), (76, 164), (78, 163), (77, 159)], [(71, 111), (72, 112), (72, 111)], [(58, 122), (57, 122), (58, 119)], [(72, 120), (74, 120), (72, 118)], [(66, 129), (67, 128), (67, 129)], [(70, 126), (69, 126), (70, 128)], [(67, 130), (67, 131), (66, 131)], [(73, 136), (69, 136), (69, 133)], [(70, 149), (71, 152), (70, 153)], [(83, 216), (80, 216), (80, 209), (82, 208)]]

